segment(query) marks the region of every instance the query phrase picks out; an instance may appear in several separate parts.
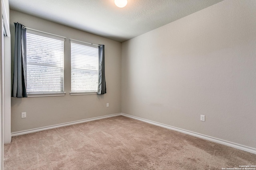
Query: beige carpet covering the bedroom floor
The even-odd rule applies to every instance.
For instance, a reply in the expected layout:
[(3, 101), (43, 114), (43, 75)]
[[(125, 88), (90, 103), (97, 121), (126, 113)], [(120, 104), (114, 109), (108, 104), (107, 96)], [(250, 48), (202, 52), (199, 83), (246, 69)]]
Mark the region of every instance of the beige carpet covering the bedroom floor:
[(221, 170), (256, 154), (123, 116), (12, 138), (5, 170)]

